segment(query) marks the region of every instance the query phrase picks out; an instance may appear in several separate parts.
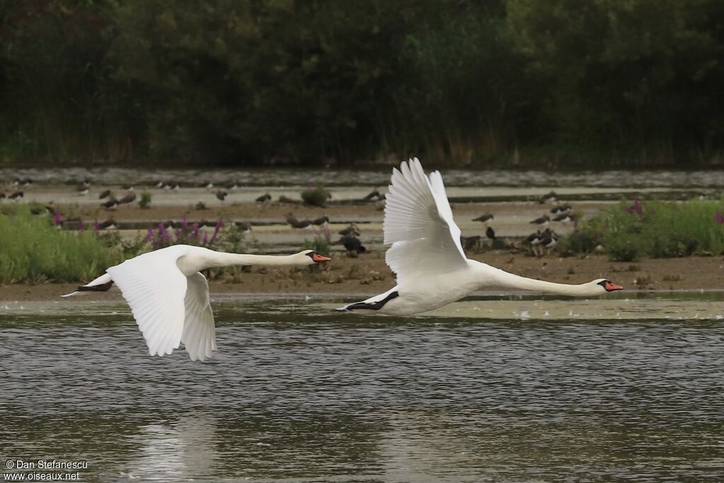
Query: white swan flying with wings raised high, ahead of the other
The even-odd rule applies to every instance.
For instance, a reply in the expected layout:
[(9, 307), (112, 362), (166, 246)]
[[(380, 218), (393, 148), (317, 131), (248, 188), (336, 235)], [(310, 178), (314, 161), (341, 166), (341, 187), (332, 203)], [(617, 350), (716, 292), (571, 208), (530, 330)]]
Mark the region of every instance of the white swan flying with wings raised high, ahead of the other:
[(495, 286), (560, 295), (592, 296), (621, 290), (609, 280), (566, 285), (519, 277), (470, 260), (460, 246), (460, 228), (439, 172), (425, 175), (417, 158), (392, 169), (384, 208), (385, 261), (397, 285), (366, 301), (337, 310), (412, 315), (457, 301), (481, 287)]

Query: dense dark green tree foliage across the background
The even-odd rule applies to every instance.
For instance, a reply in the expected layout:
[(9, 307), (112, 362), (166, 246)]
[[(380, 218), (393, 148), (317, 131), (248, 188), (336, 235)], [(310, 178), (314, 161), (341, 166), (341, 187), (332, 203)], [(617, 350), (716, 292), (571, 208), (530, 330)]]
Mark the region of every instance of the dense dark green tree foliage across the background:
[(720, 0), (0, 0), (5, 162), (720, 160)]

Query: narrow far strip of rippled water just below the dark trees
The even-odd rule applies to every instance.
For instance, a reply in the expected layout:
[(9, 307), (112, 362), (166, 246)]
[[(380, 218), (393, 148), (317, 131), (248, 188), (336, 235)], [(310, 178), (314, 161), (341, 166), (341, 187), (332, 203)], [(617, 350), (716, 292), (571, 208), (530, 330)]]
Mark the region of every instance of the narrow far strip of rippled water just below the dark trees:
[[(429, 167), (428, 169), (432, 169)], [(227, 183), (232, 180), (244, 186), (306, 186), (321, 183), (327, 186), (386, 186), (391, 168), (374, 169), (130, 169), (130, 168), (45, 168), (0, 169), (0, 180), (30, 177), (35, 182), (79, 182), (90, 178), (96, 184), (157, 180), (196, 185), (201, 182)], [(509, 187), (589, 187), (589, 188), (722, 188), (724, 170), (607, 170), (514, 171), (501, 169), (442, 169), (447, 186), (509, 186)]]

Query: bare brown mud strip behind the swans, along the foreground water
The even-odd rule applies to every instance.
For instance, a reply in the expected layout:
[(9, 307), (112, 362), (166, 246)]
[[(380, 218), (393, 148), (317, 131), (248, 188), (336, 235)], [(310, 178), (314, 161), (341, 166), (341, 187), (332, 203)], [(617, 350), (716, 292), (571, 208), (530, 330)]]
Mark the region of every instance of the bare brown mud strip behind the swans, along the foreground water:
[[(508, 251), (489, 251), (471, 256), (508, 272), (551, 282), (582, 283), (608, 278), (625, 290), (722, 290), (724, 259), (689, 257), (647, 259), (635, 262), (609, 261), (606, 256), (541, 259)], [(376, 252), (352, 258), (342, 253), (323, 270), (268, 269), (252, 267), (233, 280), (209, 283), (213, 294), (253, 295), (375, 295), (395, 285), (395, 277), (384, 263), (384, 253)], [(0, 301), (54, 301), (75, 290), (75, 284), (0, 285)], [(494, 287), (491, 287), (494, 290)], [(94, 300), (122, 301), (118, 290), (87, 295)], [(72, 299), (67, 299), (72, 300)]]

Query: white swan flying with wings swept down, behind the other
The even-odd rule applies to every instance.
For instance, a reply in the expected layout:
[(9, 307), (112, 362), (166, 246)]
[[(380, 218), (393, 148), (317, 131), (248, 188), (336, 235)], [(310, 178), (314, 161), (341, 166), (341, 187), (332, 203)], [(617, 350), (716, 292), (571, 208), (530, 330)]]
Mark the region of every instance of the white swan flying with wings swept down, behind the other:
[(302, 266), (329, 260), (313, 250), (270, 256), (172, 245), (111, 266), (93, 282), (62, 297), (106, 291), (115, 282), (151, 356), (170, 354), (183, 343), (192, 361), (203, 361), (214, 355), (216, 332), (209, 284), (201, 270), (232, 265)]

